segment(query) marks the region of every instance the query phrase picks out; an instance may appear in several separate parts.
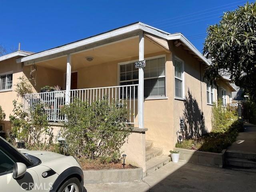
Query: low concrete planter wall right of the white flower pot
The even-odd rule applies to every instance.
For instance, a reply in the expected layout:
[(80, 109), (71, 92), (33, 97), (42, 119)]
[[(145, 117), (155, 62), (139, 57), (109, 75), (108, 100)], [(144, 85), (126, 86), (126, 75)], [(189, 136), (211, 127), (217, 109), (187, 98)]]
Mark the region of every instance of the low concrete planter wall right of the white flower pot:
[(211, 153), (182, 148), (174, 148), (174, 150), (180, 151), (180, 160), (185, 162), (220, 168), (222, 168), (224, 165), (224, 153), (226, 150), (223, 150), (222, 153)]

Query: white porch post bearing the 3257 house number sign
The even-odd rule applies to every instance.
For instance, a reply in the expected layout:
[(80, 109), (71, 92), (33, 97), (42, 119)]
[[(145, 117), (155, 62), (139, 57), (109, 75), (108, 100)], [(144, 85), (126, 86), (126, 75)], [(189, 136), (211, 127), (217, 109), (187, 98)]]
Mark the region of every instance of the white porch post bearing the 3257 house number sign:
[[(144, 60), (144, 34), (139, 36), (139, 61)], [(144, 68), (139, 68), (139, 128), (144, 128)]]

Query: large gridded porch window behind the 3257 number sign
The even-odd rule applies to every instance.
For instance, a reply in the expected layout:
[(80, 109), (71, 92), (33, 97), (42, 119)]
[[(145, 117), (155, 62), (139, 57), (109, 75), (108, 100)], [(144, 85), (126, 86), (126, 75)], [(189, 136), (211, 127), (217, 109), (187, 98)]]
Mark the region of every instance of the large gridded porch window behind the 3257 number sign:
[[(120, 64), (119, 70), (120, 85), (138, 84), (139, 72), (135, 62)], [(144, 97), (161, 96), (165, 96), (165, 57), (148, 58), (144, 67)]]

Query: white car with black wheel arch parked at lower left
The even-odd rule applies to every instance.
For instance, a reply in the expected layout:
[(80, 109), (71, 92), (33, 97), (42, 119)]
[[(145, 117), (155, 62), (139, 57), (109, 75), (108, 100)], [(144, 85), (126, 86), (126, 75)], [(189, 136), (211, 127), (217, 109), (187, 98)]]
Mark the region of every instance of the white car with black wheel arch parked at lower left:
[(82, 192), (78, 161), (48, 151), (18, 151), (0, 137), (0, 191)]

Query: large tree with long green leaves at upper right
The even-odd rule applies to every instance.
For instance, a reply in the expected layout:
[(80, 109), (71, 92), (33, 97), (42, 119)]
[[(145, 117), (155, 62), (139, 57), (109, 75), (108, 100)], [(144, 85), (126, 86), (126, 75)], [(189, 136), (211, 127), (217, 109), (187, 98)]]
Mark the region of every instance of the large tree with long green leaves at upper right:
[(215, 82), (228, 75), (256, 101), (256, 3), (224, 13), (207, 32), (203, 54), (211, 56), (212, 65), (206, 78)]

